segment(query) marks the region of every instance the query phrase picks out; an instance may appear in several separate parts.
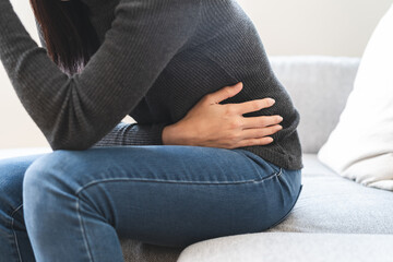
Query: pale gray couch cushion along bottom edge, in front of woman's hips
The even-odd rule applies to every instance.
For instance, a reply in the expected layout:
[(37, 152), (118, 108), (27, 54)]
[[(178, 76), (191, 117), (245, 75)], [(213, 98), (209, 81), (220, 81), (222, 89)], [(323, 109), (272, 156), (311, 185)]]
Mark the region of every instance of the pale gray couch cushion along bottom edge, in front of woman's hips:
[(392, 235), (262, 233), (189, 246), (178, 262), (391, 262)]

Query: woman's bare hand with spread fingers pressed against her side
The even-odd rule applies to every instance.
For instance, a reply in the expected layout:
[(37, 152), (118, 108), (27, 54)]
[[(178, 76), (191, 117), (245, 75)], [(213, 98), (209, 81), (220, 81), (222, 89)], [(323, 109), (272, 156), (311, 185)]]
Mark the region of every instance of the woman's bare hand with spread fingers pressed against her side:
[(274, 99), (264, 98), (240, 104), (224, 104), (222, 100), (238, 94), (242, 83), (226, 86), (205, 95), (180, 121), (165, 127), (165, 145), (194, 145), (236, 148), (249, 145), (265, 145), (273, 142), (271, 135), (282, 129), (281, 116), (243, 117), (243, 114), (271, 107)]

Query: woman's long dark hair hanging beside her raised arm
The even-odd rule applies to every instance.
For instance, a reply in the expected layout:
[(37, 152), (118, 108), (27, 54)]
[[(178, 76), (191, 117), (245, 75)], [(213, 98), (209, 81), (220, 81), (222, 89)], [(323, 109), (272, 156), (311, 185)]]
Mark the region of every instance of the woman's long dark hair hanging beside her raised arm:
[(68, 74), (80, 72), (98, 49), (90, 10), (80, 0), (29, 0), (51, 60)]

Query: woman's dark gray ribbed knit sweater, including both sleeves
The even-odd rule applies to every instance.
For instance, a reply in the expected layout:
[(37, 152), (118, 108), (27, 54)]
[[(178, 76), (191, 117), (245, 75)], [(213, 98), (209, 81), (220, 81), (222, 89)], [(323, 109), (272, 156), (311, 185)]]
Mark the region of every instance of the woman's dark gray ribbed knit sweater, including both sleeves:
[[(274, 106), (243, 116), (284, 120), (273, 143), (238, 148), (283, 168), (303, 167), (300, 116), (235, 0), (82, 1), (100, 46), (82, 72), (67, 75), (31, 38), (10, 1), (0, 0), (1, 61), (52, 150), (163, 145), (165, 126), (207, 93), (241, 81), (242, 91), (221, 104), (272, 97)], [(138, 123), (121, 122), (127, 115)]]

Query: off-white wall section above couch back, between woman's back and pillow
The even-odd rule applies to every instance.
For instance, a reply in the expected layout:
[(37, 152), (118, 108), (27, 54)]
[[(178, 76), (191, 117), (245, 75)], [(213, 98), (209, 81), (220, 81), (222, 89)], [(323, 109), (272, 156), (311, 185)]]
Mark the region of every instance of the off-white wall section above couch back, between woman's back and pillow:
[(238, 0), (269, 55), (360, 57), (392, 0)]

